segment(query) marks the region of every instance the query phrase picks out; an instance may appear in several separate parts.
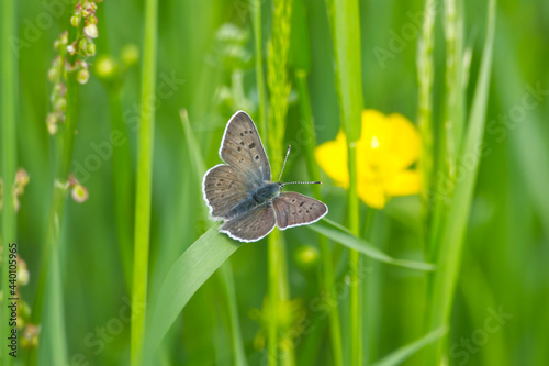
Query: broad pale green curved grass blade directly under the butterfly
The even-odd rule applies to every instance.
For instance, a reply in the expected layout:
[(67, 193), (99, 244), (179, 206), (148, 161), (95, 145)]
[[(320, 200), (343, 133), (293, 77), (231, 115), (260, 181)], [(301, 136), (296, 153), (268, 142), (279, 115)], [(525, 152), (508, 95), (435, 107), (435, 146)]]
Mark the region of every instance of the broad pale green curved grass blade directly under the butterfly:
[(147, 356), (156, 351), (194, 292), (238, 247), (238, 242), (220, 234), (214, 225), (176, 260), (148, 312)]

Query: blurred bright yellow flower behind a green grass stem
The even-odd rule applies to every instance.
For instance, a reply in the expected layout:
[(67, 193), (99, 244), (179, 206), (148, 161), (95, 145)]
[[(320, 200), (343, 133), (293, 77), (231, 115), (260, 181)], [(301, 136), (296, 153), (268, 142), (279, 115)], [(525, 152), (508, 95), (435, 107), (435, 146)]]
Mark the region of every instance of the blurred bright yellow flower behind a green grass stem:
[[(362, 134), (357, 142), (358, 196), (371, 208), (382, 209), (391, 197), (418, 193), (421, 175), (411, 166), (419, 157), (421, 140), (405, 117), (362, 111)], [(315, 149), (315, 158), (338, 186), (349, 187), (347, 143), (340, 131), (335, 141)]]

